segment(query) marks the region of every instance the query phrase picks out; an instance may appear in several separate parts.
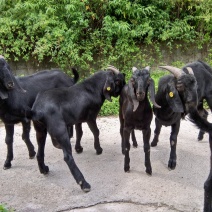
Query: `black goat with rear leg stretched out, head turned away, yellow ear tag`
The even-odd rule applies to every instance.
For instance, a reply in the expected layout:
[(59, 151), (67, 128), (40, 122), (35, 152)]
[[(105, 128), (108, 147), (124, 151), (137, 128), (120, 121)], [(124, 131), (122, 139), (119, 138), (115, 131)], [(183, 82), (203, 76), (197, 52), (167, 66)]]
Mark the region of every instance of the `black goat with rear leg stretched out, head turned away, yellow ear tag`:
[(102, 151), (96, 118), (105, 99), (112, 101), (111, 96), (117, 97), (124, 84), (124, 75), (114, 67), (109, 67), (108, 71), (99, 71), (70, 88), (52, 89), (38, 94), (31, 116), (37, 135), (37, 161), (41, 173), (49, 172), (48, 166), (44, 163), (44, 148), (48, 132), (53, 145), (62, 148), (64, 160), (76, 182), (83, 191), (90, 191), (90, 185), (74, 162), (67, 127), (87, 122), (95, 137), (96, 151)]

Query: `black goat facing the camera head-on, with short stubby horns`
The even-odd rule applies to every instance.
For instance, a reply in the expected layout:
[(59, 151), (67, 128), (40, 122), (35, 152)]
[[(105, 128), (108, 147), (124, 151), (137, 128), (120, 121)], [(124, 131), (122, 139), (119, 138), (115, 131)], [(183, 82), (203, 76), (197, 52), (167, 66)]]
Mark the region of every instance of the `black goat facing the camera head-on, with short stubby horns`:
[(150, 100), (156, 107), (160, 107), (155, 102), (155, 87), (154, 81), (150, 77), (149, 67), (139, 70), (133, 67), (133, 74), (128, 85), (125, 85), (119, 99), (119, 119), (120, 119), (120, 134), (122, 153), (125, 155), (124, 171), (130, 170), (130, 143), (129, 137), (134, 129), (142, 130), (144, 152), (145, 152), (145, 167), (146, 173), (152, 174), (150, 162), (150, 144), (151, 136), (150, 124), (152, 121), (152, 108), (148, 100), (148, 91)]

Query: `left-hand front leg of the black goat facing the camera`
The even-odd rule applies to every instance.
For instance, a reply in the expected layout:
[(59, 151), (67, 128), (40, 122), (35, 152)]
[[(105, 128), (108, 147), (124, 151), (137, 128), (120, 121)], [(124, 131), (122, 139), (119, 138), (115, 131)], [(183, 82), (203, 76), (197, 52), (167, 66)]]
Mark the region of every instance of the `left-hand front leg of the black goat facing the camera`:
[(124, 127), (123, 129), (123, 140), (124, 140), (124, 171), (129, 172), (130, 171), (130, 133), (131, 130)]

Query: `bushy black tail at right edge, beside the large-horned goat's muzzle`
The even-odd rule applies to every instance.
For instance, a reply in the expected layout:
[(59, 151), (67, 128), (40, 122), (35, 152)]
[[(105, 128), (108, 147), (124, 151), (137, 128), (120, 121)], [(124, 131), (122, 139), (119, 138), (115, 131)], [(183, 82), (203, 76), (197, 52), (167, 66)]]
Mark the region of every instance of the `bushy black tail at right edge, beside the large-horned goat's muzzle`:
[(189, 113), (188, 119), (194, 123), (199, 129), (206, 131), (208, 133), (212, 132), (212, 123), (204, 119), (197, 110), (193, 110)]

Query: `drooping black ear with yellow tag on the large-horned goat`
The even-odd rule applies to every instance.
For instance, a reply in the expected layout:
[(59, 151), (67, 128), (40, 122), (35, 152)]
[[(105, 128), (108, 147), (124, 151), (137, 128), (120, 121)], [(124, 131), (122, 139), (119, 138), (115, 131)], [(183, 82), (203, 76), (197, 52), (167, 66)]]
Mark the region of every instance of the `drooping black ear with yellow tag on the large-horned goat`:
[(180, 99), (177, 89), (175, 88), (174, 83), (168, 83), (166, 100), (175, 113), (184, 112), (183, 103)]

